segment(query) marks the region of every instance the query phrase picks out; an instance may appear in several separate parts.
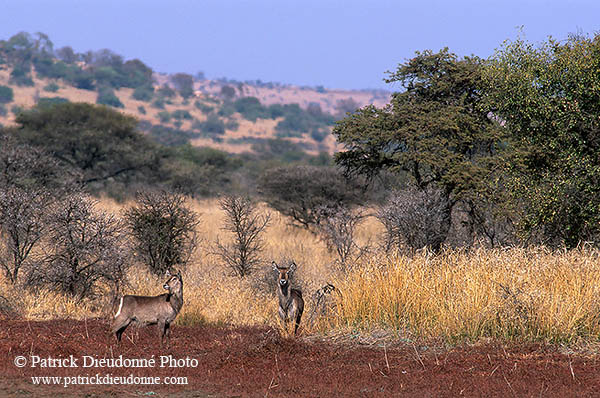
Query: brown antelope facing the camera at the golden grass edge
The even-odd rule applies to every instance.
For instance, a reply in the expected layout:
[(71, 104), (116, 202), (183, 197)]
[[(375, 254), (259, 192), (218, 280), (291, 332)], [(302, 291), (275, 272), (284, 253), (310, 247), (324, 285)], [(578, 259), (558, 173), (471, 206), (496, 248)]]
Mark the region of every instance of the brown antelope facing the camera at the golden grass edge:
[(296, 263), (292, 263), (288, 267), (280, 267), (275, 261), (272, 263), (273, 269), (279, 273), (277, 278), (277, 297), (279, 297), (279, 317), (284, 322), (287, 331), (288, 321), (291, 319), (295, 323), (294, 334), (298, 333), (300, 318), (304, 311), (304, 300), (302, 292), (298, 289), (290, 287), (289, 276), (295, 271)]

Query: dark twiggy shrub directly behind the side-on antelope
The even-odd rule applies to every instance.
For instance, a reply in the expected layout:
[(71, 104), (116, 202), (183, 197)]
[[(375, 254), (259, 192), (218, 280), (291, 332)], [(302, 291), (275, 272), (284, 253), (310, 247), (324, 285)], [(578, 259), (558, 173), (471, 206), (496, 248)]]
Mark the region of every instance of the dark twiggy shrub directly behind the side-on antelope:
[(124, 213), (139, 260), (157, 275), (185, 268), (196, 249), (199, 215), (179, 193), (139, 192), (136, 204)]

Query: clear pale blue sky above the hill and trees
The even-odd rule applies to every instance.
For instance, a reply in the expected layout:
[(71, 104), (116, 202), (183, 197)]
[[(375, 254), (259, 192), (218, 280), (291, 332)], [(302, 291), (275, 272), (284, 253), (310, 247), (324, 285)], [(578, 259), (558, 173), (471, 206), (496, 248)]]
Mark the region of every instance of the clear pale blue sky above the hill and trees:
[(0, 0), (0, 39), (39, 31), (159, 72), (328, 88), (393, 89), (384, 72), (415, 51), (485, 58), (519, 26), (534, 42), (594, 34), (600, 1)]

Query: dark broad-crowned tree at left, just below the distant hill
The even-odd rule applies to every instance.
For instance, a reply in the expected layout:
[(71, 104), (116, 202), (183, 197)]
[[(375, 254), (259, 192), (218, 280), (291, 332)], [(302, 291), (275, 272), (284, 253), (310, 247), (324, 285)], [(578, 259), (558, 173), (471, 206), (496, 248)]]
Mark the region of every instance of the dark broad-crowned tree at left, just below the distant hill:
[(52, 153), (90, 188), (128, 181), (155, 162), (154, 145), (137, 133), (137, 121), (108, 107), (54, 104), (22, 112), (16, 122), (18, 140)]

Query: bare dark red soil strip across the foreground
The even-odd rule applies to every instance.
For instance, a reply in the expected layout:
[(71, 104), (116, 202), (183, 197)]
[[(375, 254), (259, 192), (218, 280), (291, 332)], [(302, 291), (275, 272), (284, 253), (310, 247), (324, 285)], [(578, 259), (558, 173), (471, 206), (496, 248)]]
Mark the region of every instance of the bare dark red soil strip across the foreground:
[[(121, 346), (108, 323), (2, 321), (0, 395), (178, 397), (600, 397), (599, 357), (539, 345), (367, 347), (282, 338), (268, 328), (174, 327), (161, 349), (155, 329), (128, 329)], [(128, 336), (128, 338), (126, 338)], [(133, 338), (132, 338), (133, 337)], [(79, 358), (79, 368), (23, 368), (22, 355)], [(197, 359), (197, 367), (83, 368), (96, 358)], [(185, 376), (182, 386), (36, 386), (32, 376)]]

